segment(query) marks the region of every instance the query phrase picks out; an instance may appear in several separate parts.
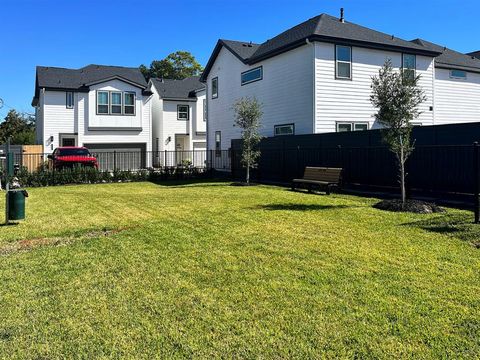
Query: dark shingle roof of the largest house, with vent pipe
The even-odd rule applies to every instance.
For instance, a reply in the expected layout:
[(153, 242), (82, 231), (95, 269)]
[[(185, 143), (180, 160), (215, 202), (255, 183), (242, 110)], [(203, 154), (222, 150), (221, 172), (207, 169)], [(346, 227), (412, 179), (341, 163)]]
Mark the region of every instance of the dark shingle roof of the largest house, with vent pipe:
[[(262, 44), (219, 40), (201, 76), (201, 81), (205, 81), (222, 47), (230, 50), (245, 64), (251, 65), (301, 46), (305, 44), (307, 40), (409, 52), (432, 57), (439, 55), (438, 51), (411, 41), (403, 40), (393, 35), (388, 35), (348, 21), (342, 22), (339, 18), (328, 14), (321, 14), (282, 32)], [(247, 47), (247, 44), (251, 44), (251, 47)]]

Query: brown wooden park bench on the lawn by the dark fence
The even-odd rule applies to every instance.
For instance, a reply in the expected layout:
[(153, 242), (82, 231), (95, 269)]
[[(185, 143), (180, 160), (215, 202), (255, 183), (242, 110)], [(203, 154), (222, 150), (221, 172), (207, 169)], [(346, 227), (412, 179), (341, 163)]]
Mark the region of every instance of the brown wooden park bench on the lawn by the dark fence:
[(330, 195), (333, 187), (340, 186), (341, 175), (341, 168), (307, 166), (303, 179), (292, 180), (292, 190), (295, 190), (297, 185), (303, 185), (308, 192), (312, 192), (313, 188), (322, 188), (325, 189), (327, 195)]

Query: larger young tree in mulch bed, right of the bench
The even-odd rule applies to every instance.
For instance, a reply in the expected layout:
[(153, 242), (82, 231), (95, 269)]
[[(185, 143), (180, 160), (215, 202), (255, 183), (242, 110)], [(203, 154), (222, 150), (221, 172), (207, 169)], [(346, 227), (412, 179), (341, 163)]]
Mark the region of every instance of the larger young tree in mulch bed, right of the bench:
[(378, 76), (372, 77), (370, 101), (378, 108), (374, 115), (385, 127), (383, 139), (397, 157), (402, 206), (406, 203), (405, 163), (414, 149), (411, 121), (420, 115), (418, 106), (426, 100), (419, 87), (420, 75), (411, 69), (393, 70), (391, 60), (385, 61)]

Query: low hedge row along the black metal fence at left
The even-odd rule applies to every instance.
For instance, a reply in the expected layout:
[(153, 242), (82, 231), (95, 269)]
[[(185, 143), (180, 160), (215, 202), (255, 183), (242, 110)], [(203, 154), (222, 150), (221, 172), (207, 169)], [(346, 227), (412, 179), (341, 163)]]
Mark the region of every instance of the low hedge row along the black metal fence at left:
[[(138, 171), (100, 171), (94, 168), (73, 168), (62, 170), (39, 170), (29, 172), (22, 169), (15, 175), (15, 181), (22, 187), (55, 186), (67, 184), (100, 184), (134, 181), (152, 181), (173, 179), (194, 179), (206, 176), (204, 169), (194, 167), (166, 167), (162, 169), (144, 169)], [(2, 176), (2, 185), (5, 178)]]

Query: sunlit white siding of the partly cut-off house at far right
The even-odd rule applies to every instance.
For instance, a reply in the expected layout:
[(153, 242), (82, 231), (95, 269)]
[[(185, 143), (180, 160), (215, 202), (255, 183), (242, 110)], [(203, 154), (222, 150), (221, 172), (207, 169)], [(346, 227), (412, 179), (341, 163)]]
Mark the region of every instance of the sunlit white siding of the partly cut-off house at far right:
[(480, 122), (480, 74), (458, 80), (450, 70), (435, 69), (435, 124), (464, 122)]

